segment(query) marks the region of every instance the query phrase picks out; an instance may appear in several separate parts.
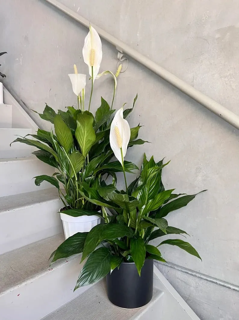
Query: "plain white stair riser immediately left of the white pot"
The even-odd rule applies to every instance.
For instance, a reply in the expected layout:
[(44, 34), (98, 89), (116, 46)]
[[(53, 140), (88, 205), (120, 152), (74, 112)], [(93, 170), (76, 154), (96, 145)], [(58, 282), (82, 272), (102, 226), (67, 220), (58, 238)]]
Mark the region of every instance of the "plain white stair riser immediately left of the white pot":
[(0, 212), (0, 254), (61, 233), (61, 205), (55, 199)]

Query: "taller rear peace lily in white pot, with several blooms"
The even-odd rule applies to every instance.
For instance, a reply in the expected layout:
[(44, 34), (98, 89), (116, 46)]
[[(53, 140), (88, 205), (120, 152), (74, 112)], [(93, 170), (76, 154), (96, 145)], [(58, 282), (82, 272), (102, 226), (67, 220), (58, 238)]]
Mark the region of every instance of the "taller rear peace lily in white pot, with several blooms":
[[(115, 111), (113, 102), (117, 86), (116, 76), (119, 75), (120, 68), (116, 76), (110, 71), (98, 74), (102, 46), (98, 33), (92, 27), (85, 38), (83, 58), (91, 76), (88, 110), (85, 110), (86, 75), (78, 74), (74, 65), (75, 73), (69, 74), (69, 77), (73, 92), (77, 96), (77, 107), (70, 106), (67, 107), (67, 111), (58, 110), (56, 114), (46, 105), (43, 114), (39, 116), (54, 125), (54, 132), (38, 129), (37, 134), (20, 137), (13, 141), (37, 147), (39, 150), (34, 151), (33, 154), (55, 168), (56, 172), (53, 176), (40, 175), (34, 178), (38, 186), (42, 181), (47, 181), (58, 189), (63, 203), (60, 212), (66, 238), (77, 232), (90, 231), (106, 214), (100, 204), (84, 199), (81, 189), (97, 190), (98, 187), (105, 186), (103, 177), (111, 176), (116, 181), (115, 172), (123, 171), (119, 161), (110, 162), (113, 152), (109, 140), (111, 116)], [(114, 80), (111, 107), (101, 98), (101, 106), (93, 116), (90, 107), (94, 81), (105, 74), (111, 74)], [(136, 99), (137, 96), (134, 104)], [(125, 116), (133, 108), (126, 110)], [(143, 140), (137, 139), (136, 132), (139, 129), (140, 126), (132, 128), (133, 135), (130, 139), (132, 146), (144, 143)], [(29, 136), (33, 139), (29, 139)], [(131, 162), (125, 162), (124, 168), (127, 172), (132, 172), (137, 169), (137, 166)]]

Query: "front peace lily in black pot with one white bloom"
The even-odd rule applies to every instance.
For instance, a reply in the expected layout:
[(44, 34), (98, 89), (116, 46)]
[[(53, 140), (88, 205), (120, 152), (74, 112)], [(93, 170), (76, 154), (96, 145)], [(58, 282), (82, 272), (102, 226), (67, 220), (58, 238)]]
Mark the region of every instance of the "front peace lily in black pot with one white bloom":
[[(181, 239), (151, 240), (168, 234), (184, 234), (186, 231), (168, 226), (165, 219), (171, 211), (186, 206), (194, 195), (175, 194), (174, 189), (165, 190), (162, 183), (163, 160), (148, 161), (144, 155), (140, 175), (128, 186), (124, 157), (130, 145), (130, 130), (124, 119), (123, 108), (118, 110), (111, 123), (110, 145), (119, 160), (125, 179), (125, 190), (117, 190), (116, 181), (109, 185), (79, 189), (85, 200), (108, 208), (105, 223), (91, 231), (68, 238), (52, 254), (52, 262), (82, 252), (81, 262), (86, 258), (78, 277), (75, 290), (93, 284), (106, 276), (109, 300), (120, 308), (140, 308), (147, 304), (153, 293), (153, 260), (166, 262), (159, 248), (176, 245), (198, 257), (191, 244)], [(155, 229), (156, 228), (156, 229)], [(98, 247), (100, 244), (102, 246)]]

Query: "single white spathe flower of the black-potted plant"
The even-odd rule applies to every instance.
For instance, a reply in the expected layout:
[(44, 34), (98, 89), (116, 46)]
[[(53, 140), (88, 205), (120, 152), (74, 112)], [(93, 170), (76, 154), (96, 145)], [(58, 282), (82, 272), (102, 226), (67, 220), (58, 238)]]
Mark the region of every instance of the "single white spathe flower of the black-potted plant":
[(128, 143), (130, 139), (130, 127), (123, 118), (123, 108), (118, 110), (113, 118), (110, 126), (110, 146), (116, 158), (122, 163), (121, 149), (123, 159), (126, 155)]

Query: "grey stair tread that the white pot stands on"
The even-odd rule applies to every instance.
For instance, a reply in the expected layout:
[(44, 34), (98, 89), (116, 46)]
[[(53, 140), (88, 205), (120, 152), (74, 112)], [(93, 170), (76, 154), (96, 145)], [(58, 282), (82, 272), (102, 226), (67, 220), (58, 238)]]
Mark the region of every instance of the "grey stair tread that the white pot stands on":
[(0, 291), (48, 268), (51, 253), (64, 240), (59, 234), (1, 254)]

